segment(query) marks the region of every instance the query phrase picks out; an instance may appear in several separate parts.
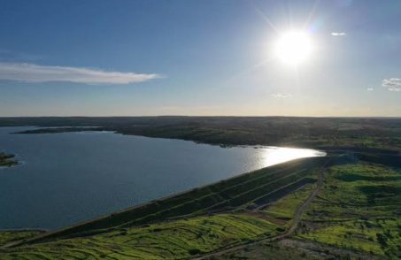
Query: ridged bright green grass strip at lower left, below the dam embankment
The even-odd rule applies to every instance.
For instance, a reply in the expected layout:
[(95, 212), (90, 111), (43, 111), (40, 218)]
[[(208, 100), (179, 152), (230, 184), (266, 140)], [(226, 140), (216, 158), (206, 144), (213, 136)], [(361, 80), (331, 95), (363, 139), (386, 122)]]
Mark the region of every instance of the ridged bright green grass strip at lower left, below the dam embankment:
[(7, 249), (0, 258), (176, 259), (274, 236), (277, 227), (245, 214), (218, 214)]

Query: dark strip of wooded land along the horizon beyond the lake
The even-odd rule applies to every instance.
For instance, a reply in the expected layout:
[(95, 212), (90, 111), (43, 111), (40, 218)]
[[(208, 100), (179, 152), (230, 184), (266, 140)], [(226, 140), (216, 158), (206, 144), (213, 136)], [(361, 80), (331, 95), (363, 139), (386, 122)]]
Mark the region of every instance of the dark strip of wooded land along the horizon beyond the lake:
[[(3, 118), (0, 126), (98, 126), (120, 134), (220, 145), (401, 149), (401, 119), (289, 117)], [(65, 128), (72, 131), (71, 128)], [(79, 131), (85, 129), (80, 128)], [(29, 133), (58, 133), (54, 128)], [(62, 132), (62, 131), (61, 131)]]

